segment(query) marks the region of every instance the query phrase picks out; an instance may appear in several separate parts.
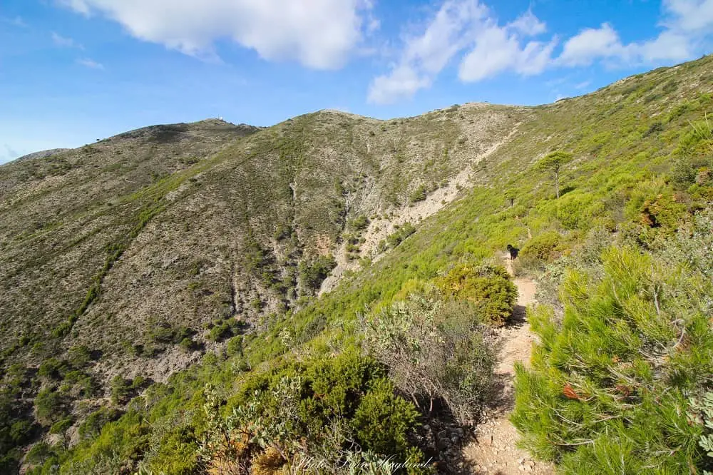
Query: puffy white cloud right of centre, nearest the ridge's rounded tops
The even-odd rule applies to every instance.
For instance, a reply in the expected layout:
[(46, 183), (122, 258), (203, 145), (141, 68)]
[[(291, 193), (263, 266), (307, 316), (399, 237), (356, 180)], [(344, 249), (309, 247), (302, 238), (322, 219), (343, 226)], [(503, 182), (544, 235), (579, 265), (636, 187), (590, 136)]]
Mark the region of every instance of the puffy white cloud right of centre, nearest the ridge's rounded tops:
[(409, 98), (431, 86), (454, 56), (471, 48), (461, 61), (461, 81), (480, 81), (511, 69), (520, 74), (538, 73), (550, 62), (555, 41), (521, 38), (546, 31), (546, 26), (527, 11), (511, 24), (498, 26), (488, 7), (478, 0), (448, 0), (419, 36), (407, 38), (399, 61), (391, 71), (374, 78), (369, 87), (371, 103), (391, 103)]

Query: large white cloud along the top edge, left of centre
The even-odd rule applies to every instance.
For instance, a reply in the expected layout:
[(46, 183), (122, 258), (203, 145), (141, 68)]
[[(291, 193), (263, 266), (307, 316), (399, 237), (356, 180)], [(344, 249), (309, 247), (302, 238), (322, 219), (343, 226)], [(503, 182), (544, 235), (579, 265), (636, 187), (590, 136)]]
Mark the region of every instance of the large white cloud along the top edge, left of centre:
[[(118, 21), (135, 38), (191, 56), (217, 58), (232, 39), (267, 60), (339, 68), (379, 24), (369, 0), (59, 0), (85, 15)], [(366, 21), (364, 13), (366, 12)]]

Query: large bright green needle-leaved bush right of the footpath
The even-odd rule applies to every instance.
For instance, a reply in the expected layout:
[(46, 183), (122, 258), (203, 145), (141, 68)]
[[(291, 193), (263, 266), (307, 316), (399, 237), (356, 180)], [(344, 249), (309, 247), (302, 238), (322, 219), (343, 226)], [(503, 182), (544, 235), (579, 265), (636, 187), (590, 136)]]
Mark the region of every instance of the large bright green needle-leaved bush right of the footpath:
[(530, 316), (541, 343), (517, 368), (513, 423), (567, 473), (687, 473), (702, 451), (685, 394), (713, 374), (710, 282), (632, 249), (605, 252), (603, 270), (570, 273), (561, 322)]

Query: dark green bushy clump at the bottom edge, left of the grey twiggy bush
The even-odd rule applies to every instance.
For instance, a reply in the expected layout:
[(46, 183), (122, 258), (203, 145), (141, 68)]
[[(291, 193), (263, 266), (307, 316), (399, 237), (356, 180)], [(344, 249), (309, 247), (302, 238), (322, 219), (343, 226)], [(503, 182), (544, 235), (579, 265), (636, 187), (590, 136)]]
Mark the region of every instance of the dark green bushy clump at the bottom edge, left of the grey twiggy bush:
[(413, 405), (394, 394), (379, 364), (354, 349), (252, 377), (228, 402), (225, 419), (214, 389), (207, 387), (206, 399), (201, 453), (209, 470), (272, 473), (268, 467), (294, 470), (310, 459), (341, 473), (345, 458), (418, 456), (407, 437)]

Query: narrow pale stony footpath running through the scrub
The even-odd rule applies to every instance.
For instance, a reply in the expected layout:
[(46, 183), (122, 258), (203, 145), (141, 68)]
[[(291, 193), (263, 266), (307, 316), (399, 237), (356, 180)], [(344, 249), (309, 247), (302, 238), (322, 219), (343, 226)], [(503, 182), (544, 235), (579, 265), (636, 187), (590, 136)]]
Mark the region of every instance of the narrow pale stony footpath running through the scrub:
[[(506, 267), (513, 274), (512, 263), (506, 260)], [(529, 279), (513, 280), (518, 287), (518, 302), (515, 306), (513, 324), (500, 330), (499, 339), (502, 342), (500, 358), (496, 373), (503, 382), (501, 399), (493, 408), (485, 422), (478, 425), (476, 440), (463, 448), (463, 459), (471, 467), (474, 474), (538, 474), (555, 473), (551, 464), (535, 461), (526, 451), (518, 449), (515, 444), (519, 439), (517, 429), (508, 420), (514, 402), (513, 379), (516, 361), (528, 364), (535, 335), (530, 332), (525, 309), (535, 303), (535, 282)]]

